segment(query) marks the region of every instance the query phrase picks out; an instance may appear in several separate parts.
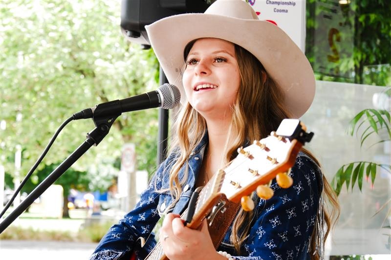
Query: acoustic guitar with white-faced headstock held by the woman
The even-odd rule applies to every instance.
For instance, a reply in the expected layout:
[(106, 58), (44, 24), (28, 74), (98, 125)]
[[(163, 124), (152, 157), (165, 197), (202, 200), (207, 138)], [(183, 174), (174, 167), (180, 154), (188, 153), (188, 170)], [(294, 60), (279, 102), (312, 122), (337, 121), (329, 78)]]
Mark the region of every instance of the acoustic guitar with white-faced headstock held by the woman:
[[(256, 191), (262, 199), (269, 199), (273, 190), (269, 187), (276, 178), (282, 188), (288, 188), (293, 180), (290, 168), (305, 142), (313, 133), (306, 133), (300, 120), (282, 120), (276, 132), (262, 140), (238, 149), (238, 156), (219, 170), (204, 186), (195, 190), (188, 208), (181, 215), (187, 227), (196, 229), (207, 218), (209, 225), (215, 216), (224, 211), (225, 200), (241, 203), (244, 210), (254, 209), (250, 195)], [(131, 260), (136, 259), (133, 255)], [(158, 242), (145, 260), (168, 260)]]

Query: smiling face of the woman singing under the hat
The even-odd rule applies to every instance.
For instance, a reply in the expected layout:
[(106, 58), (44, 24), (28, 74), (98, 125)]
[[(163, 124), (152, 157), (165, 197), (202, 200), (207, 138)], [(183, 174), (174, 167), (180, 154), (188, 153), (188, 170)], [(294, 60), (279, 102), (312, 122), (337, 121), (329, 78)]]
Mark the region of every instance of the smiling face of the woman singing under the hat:
[(187, 100), (204, 118), (230, 115), (240, 85), (234, 44), (214, 38), (195, 41), (182, 81)]

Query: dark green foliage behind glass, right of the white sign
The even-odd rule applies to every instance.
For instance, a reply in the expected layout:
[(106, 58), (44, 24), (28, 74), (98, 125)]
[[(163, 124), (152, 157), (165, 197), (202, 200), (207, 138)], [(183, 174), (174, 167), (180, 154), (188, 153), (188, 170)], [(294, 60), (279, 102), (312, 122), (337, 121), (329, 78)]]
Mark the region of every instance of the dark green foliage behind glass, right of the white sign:
[(308, 0), (306, 56), (318, 80), (391, 85), (391, 2)]

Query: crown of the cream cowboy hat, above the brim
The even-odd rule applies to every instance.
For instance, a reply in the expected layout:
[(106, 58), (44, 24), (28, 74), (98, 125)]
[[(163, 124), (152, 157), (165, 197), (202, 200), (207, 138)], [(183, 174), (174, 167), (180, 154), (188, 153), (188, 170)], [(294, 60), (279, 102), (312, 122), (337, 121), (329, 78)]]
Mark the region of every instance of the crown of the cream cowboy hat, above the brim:
[(206, 9), (205, 14), (259, 20), (254, 9), (243, 0), (217, 0)]

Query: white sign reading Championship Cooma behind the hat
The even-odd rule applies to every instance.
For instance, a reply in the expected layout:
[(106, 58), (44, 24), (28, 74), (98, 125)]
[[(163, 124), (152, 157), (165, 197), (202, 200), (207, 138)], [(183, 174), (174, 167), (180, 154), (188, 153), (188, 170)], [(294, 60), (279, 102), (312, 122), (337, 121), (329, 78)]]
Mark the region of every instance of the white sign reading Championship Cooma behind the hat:
[(280, 27), (304, 52), (305, 50), (305, 0), (272, 1), (248, 0), (260, 20)]

